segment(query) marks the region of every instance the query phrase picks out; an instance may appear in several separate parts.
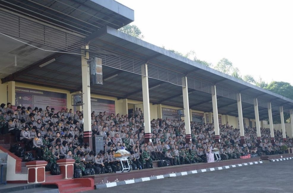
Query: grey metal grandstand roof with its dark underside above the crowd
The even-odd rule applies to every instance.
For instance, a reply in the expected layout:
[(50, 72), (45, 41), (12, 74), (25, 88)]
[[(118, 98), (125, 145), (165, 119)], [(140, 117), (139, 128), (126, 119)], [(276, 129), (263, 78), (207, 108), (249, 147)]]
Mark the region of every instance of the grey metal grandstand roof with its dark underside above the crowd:
[[(150, 67), (156, 67), (166, 71), (166, 73), (196, 79), (205, 83), (202, 87), (216, 85), (216, 88), (221, 88), (218, 90), (219, 95), (217, 96), (218, 113), (220, 114), (238, 116), (237, 100), (234, 95), (229, 95), (230, 91), (231, 93), (237, 92), (243, 95), (243, 117), (255, 117), (253, 103), (249, 102), (250, 99), (245, 99), (246, 95), (251, 98), (271, 102), (273, 115), (279, 114), (279, 106), (283, 106), (284, 111), (293, 107), (293, 101), (281, 95), (260, 89), (259, 87), (117, 31), (116, 29), (133, 20), (133, 11), (116, 1), (107, 1), (107, 4), (102, 0), (0, 1), (0, 11), (1, 9), (6, 9), (6, 11), (10, 10), (22, 15), (31, 14), (36, 20), (39, 18), (42, 22), (79, 34), (80, 36), (78, 37), (82, 37), (86, 42), (90, 42), (89, 51), (92, 57), (103, 58), (107, 54), (110, 54), (116, 58), (121, 58), (121, 60), (124, 58), (127, 63), (126, 65), (129, 65), (129, 69), (120, 68), (120, 60), (113, 60), (112, 66), (103, 63), (103, 79), (107, 79), (116, 74), (117, 76), (104, 80), (103, 85), (91, 86), (91, 93), (113, 96), (118, 99), (128, 98), (142, 101), (141, 72), (138, 70), (132, 73), (130, 69), (132, 68), (130, 63), (135, 63), (136, 61), (136, 65), (138, 66), (148, 63)], [(108, 26), (104, 27), (105, 25)], [(80, 55), (52, 54), (51, 52), (40, 51), (37, 48), (32, 49), (31, 46), (12, 40), (9, 37), (0, 35), (0, 38), (0, 41), (5, 40), (3, 41), (5, 45), (0, 46), (0, 58), (4, 64), (1, 66), (1, 73), (3, 73), (0, 74), (0, 78), (5, 77), (1, 79), (2, 83), (6, 81), (19, 81), (60, 88), (71, 92), (82, 89)], [(28, 43), (31, 44), (31, 42)], [(37, 47), (46, 50), (57, 50), (55, 47), (50, 47), (50, 45), (43, 45), (40, 42), (34, 43)], [(26, 54), (21, 57), (20, 53)], [(20, 59), (16, 67), (15, 55)], [(39, 65), (52, 59), (55, 59), (55, 61), (42, 68), (39, 67)], [(180, 86), (182, 82), (176, 84), (172, 81), (172, 76), (169, 81), (162, 81), (159, 78), (150, 77), (150, 102), (153, 104), (164, 104), (183, 108), (182, 87)], [(223, 90), (226, 88), (229, 90), (227, 95), (223, 94), (225, 93)], [(210, 88), (205, 89), (210, 90)], [(189, 107), (191, 109), (203, 112), (211, 112), (213, 110), (211, 94), (209, 91), (205, 92), (205, 89), (198, 90), (189, 87)], [(260, 119), (266, 119), (268, 117), (267, 108), (264, 105), (259, 106), (259, 117)]]

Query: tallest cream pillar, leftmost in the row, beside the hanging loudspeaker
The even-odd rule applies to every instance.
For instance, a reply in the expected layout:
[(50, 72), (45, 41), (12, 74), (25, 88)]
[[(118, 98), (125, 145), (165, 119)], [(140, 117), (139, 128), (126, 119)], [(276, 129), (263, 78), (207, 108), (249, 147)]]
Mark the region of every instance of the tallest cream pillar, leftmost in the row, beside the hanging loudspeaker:
[[(88, 45), (85, 46), (85, 48), (88, 49)], [(83, 86), (83, 140), (85, 143), (89, 143), (91, 149), (93, 149), (93, 141), (91, 138), (91, 87), (90, 70), (87, 62), (88, 59), (88, 52), (86, 52), (86, 56), (81, 56), (81, 75)]]

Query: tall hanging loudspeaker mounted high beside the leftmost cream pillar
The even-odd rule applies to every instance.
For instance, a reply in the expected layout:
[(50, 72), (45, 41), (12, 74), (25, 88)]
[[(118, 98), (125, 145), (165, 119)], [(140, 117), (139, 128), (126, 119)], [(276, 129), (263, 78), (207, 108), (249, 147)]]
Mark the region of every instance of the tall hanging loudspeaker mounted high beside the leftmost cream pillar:
[(90, 62), (91, 84), (103, 84), (102, 59), (94, 58)]

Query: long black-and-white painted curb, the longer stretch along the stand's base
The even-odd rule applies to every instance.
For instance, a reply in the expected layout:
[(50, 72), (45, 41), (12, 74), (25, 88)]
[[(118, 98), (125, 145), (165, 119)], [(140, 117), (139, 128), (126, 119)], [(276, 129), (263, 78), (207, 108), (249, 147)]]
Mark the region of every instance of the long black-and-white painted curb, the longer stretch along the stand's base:
[(244, 164), (235, 164), (235, 165), (229, 165), (229, 166), (223, 166), (223, 167), (212, 167), (208, 169), (202, 169), (202, 170), (192, 170), (188, 172), (178, 172), (178, 173), (172, 173), (172, 174), (166, 174), (166, 175), (157, 175), (157, 176), (151, 176), (146, 178), (138, 178), (133, 180), (126, 180), (126, 181), (120, 181), (120, 182), (111, 182), (111, 183), (104, 183), (104, 184), (96, 184), (96, 189), (101, 188), (110, 188), (114, 186), (120, 186), (125, 184), (131, 184), (131, 183), (138, 183), (138, 182), (144, 182), (144, 181), (150, 181), (150, 180), (158, 180), (163, 178), (170, 178), (170, 177), (176, 177), (176, 176), (183, 176), (183, 175), (189, 175), (189, 174), (197, 174), (202, 172), (210, 172), (215, 170), (224, 170), (229, 169), (233, 167), (241, 167), (241, 166), (248, 166), (252, 164), (262, 164), (262, 161), (254, 161), (254, 162), (248, 162)]

